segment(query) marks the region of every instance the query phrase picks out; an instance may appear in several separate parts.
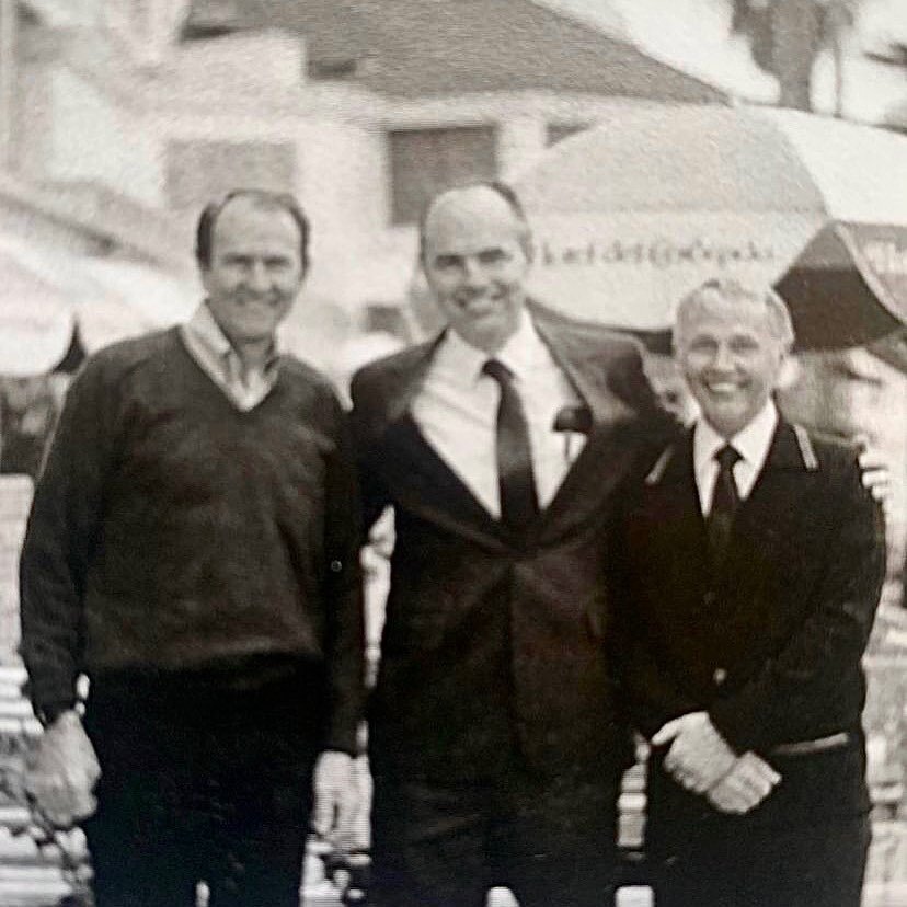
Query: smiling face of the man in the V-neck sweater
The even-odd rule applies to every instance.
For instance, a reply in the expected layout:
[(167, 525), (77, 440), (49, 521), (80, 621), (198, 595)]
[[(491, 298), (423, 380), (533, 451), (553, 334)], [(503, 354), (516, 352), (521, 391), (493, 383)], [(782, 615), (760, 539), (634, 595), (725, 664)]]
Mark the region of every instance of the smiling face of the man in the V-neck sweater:
[(234, 346), (271, 342), (303, 276), (299, 227), (289, 211), (249, 198), (227, 203), (202, 283), (215, 321)]

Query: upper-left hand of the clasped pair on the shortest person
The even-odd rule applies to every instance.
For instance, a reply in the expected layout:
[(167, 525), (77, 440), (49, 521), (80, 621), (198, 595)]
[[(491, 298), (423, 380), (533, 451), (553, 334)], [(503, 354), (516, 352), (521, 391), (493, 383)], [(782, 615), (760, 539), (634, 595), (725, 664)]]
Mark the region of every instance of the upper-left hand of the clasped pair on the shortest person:
[(669, 721), (652, 738), (654, 746), (670, 749), (665, 756), (665, 771), (687, 790), (704, 794), (731, 771), (737, 754), (715, 731), (707, 712), (689, 712)]

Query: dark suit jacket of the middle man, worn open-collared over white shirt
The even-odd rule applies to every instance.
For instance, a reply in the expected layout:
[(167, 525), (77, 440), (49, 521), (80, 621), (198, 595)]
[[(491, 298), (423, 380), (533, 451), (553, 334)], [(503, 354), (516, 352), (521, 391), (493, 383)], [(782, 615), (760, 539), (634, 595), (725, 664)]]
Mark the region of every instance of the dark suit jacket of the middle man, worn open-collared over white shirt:
[(438, 341), (353, 379), (354, 437), (371, 523), (397, 543), (369, 724), (378, 772), (475, 779), (515, 745), (541, 771), (622, 765), (602, 638), (608, 502), (641, 449), (667, 437), (632, 341), (539, 307), (533, 322), (588, 405), (583, 452), (535, 525), (509, 533), (410, 415)]

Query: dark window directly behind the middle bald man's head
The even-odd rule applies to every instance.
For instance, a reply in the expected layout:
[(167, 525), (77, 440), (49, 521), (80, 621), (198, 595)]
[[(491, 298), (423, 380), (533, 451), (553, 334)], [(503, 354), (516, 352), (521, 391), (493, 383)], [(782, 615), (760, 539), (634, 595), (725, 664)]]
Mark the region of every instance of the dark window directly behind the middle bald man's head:
[(441, 190), (497, 174), (494, 126), (400, 129), (388, 134), (393, 223), (418, 220)]

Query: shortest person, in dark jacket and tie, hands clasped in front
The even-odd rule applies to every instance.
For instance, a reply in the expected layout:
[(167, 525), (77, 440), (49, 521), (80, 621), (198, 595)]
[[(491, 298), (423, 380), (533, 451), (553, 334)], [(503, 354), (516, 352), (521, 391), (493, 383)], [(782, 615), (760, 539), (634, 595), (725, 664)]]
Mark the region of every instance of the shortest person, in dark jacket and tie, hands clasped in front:
[(792, 341), (772, 292), (687, 297), (675, 349), (701, 417), (617, 508), (615, 652), (653, 743), (658, 907), (860, 903), (884, 540), (854, 452), (776, 409)]

